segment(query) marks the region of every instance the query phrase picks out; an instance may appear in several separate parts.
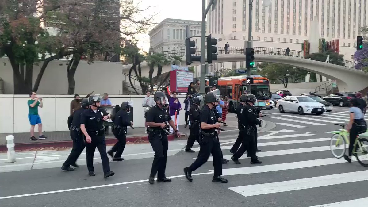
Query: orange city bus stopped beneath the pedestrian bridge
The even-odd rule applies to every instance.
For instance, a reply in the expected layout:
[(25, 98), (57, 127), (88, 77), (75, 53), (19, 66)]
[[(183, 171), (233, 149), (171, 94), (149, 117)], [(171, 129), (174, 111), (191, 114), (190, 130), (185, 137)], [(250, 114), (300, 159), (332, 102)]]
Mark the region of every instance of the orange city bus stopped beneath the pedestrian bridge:
[(239, 97), (246, 91), (251, 91), (257, 98), (255, 108), (270, 110), (270, 84), (268, 78), (259, 75), (251, 75), (253, 84), (247, 84), (247, 76), (230, 76), (217, 79), (217, 87), (222, 97), (229, 96), (229, 111), (235, 113), (240, 103)]

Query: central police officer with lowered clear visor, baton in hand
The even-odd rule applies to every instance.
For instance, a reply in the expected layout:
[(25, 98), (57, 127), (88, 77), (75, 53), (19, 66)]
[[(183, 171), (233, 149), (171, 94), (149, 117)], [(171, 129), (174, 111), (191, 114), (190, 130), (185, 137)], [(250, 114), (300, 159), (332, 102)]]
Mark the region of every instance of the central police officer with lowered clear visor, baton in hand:
[(167, 148), (169, 142), (167, 135), (169, 134), (169, 126), (174, 129), (176, 136), (180, 138), (179, 130), (176, 129), (174, 121), (168, 115), (166, 106), (169, 105), (166, 95), (162, 91), (157, 91), (153, 95), (153, 101), (156, 105), (148, 110), (146, 123), (149, 127), (148, 140), (151, 143), (155, 158), (153, 158), (151, 173), (148, 182), (153, 184), (157, 173), (157, 182), (171, 182), (171, 179), (166, 178), (165, 169), (167, 161)]

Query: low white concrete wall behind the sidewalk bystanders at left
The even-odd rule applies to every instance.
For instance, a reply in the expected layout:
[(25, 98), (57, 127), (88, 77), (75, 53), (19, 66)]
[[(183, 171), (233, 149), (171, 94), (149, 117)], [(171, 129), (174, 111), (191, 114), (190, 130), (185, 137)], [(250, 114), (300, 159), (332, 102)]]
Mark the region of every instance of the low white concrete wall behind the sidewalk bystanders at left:
[[(70, 115), (71, 95), (38, 95), (43, 98), (43, 108), (38, 108), (43, 124), (43, 131), (68, 130), (67, 119)], [(81, 94), (81, 97), (84, 95)], [(144, 111), (142, 107), (143, 95), (110, 95), (113, 105), (121, 105), (123, 101), (134, 102), (134, 127), (144, 127)], [(184, 96), (178, 96), (183, 110), (180, 112), (179, 124), (185, 123)], [(29, 131), (28, 96), (0, 95), (0, 134), (21, 133)], [(36, 128), (38, 128), (36, 126)], [(38, 129), (35, 129), (38, 131)]]

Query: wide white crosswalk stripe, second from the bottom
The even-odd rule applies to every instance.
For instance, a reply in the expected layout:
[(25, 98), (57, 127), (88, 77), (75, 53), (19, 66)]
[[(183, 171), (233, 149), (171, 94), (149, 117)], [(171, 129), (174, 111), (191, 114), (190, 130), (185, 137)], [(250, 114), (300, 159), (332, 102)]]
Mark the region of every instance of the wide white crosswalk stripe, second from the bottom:
[(348, 172), (282, 182), (229, 187), (229, 189), (248, 197), (368, 180), (367, 173), (368, 171)]

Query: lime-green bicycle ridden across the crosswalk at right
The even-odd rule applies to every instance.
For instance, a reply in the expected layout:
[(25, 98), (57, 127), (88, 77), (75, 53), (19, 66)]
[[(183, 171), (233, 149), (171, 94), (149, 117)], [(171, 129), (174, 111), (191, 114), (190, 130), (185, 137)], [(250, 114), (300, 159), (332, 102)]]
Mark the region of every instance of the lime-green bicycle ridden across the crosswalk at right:
[[(349, 148), (349, 132), (345, 129), (347, 124), (335, 124), (341, 126), (342, 129), (339, 133), (333, 134), (330, 140), (330, 150), (332, 155), (336, 158), (344, 156), (346, 148)], [(359, 135), (355, 139), (353, 147), (353, 156), (355, 156), (362, 166), (368, 166), (368, 140), (366, 138), (360, 138)], [(364, 155), (366, 155), (364, 157)]]

